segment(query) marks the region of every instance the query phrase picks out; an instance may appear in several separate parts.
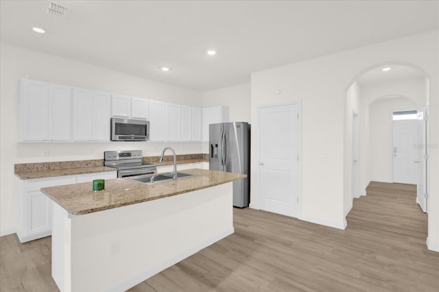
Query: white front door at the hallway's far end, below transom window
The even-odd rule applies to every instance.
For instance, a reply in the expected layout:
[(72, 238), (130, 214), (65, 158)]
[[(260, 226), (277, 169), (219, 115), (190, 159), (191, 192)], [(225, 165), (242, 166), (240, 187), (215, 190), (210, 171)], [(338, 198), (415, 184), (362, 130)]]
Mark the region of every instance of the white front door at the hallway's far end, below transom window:
[(393, 182), (416, 184), (416, 119), (393, 121)]

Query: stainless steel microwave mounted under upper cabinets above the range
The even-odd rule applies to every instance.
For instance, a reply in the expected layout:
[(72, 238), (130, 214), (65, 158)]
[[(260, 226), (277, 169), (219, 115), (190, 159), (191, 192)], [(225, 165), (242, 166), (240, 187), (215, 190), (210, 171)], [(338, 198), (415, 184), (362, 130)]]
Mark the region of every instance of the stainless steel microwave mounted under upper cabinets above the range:
[(111, 141), (149, 141), (150, 122), (111, 118)]

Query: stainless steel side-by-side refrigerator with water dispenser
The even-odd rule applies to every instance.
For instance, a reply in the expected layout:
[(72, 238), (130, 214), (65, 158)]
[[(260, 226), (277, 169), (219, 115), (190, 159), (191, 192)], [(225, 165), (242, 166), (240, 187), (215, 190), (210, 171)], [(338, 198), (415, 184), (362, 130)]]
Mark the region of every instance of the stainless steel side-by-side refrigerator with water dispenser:
[(250, 125), (246, 122), (209, 125), (209, 169), (244, 173), (233, 182), (233, 206), (250, 204)]

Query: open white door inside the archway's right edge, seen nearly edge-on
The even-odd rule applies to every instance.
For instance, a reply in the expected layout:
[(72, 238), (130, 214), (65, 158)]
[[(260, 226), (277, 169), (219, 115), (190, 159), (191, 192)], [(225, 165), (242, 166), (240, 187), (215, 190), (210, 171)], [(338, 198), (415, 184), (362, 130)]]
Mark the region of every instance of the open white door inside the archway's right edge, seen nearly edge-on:
[(418, 185), (416, 203), (419, 204), (423, 212), (427, 212), (427, 132), (426, 132), (425, 108), (418, 111)]

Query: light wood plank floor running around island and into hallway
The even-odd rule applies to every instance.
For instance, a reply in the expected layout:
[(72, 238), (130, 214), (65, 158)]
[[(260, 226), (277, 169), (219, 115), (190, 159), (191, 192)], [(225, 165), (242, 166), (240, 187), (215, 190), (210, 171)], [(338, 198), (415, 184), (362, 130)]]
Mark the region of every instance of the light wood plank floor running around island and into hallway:
[[(235, 234), (129, 291), (439, 291), (416, 186), (372, 182), (367, 194), (346, 230), (234, 209)], [(58, 291), (50, 252), (50, 237), (0, 237), (0, 291)]]

